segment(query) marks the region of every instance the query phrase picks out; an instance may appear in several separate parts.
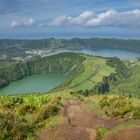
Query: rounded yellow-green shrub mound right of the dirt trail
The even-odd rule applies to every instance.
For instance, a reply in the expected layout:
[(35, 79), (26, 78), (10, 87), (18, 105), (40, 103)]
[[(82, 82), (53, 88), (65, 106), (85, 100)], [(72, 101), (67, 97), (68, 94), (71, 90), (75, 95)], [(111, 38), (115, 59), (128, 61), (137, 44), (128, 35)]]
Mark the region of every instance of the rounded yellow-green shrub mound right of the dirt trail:
[(107, 116), (117, 118), (140, 118), (140, 109), (130, 99), (121, 96), (103, 96), (99, 100), (101, 109)]

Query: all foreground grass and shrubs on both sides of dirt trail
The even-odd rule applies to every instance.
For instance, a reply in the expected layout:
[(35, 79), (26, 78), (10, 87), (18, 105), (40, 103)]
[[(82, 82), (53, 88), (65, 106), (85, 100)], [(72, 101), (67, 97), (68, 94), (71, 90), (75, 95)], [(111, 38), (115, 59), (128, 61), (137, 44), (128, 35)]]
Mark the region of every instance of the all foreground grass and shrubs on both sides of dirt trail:
[[(131, 121), (125, 124), (125, 127), (140, 127), (139, 120), (134, 123), (136, 117), (140, 119), (138, 99), (116, 95), (83, 97), (67, 92), (52, 95), (6, 96), (0, 97), (0, 139), (33, 140), (42, 128), (47, 130), (65, 123), (66, 118), (58, 115), (58, 111), (68, 99), (80, 99), (84, 102), (82, 109), (85, 113), (94, 111), (106, 119), (126, 118)], [(120, 125), (108, 131), (100, 126), (97, 137), (104, 137), (122, 127), (123, 125)]]

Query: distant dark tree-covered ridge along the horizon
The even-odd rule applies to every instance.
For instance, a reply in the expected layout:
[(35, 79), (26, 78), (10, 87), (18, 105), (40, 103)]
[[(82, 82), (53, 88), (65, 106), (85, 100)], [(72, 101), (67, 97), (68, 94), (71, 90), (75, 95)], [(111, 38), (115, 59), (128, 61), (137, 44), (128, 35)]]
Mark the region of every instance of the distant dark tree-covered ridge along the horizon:
[(22, 49), (42, 49), (42, 48), (65, 48), (65, 49), (124, 49), (134, 52), (140, 52), (140, 40), (123, 40), (123, 39), (104, 39), (104, 38), (90, 38), (90, 39), (41, 39), (41, 40), (0, 40), (0, 50), (16, 47)]

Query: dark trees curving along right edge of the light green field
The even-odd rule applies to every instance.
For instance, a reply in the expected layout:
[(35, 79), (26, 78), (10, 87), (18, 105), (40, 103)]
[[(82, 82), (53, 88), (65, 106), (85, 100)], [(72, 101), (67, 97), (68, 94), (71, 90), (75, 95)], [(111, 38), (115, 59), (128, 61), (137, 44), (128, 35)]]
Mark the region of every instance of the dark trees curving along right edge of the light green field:
[(90, 92), (91, 94), (105, 94), (116, 89), (117, 85), (124, 82), (129, 77), (129, 69), (125, 64), (117, 57), (107, 60), (107, 64), (115, 68), (115, 73), (110, 74), (108, 77), (104, 77), (102, 82), (98, 83)]

